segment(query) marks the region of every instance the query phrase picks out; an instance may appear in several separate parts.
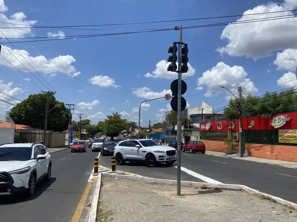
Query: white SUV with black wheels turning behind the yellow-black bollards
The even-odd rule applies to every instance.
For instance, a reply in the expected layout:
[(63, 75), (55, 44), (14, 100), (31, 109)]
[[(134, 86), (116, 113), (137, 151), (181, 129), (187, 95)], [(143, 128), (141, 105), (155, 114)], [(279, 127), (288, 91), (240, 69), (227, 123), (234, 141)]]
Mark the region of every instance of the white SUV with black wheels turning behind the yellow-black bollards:
[(149, 167), (158, 163), (173, 164), (177, 160), (177, 152), (172, 147), (161, 146), (151, 139), (131, 139), (119, 142), (114, 153), (116, 164), (129, 162), (145, 162)]

